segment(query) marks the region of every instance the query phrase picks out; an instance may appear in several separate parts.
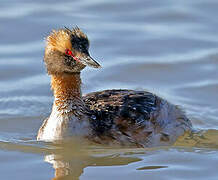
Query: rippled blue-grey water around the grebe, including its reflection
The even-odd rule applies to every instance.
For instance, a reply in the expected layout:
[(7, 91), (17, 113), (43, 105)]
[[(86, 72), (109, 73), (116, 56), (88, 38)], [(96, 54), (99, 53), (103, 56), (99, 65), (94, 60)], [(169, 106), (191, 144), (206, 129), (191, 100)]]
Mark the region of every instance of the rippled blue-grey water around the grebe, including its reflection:
[[(0, 2), (0, 179), (218, 179), (215, 0)], [(83, 92), (147, 89), (181, 105), (194, 134), (171, 147), (125, 149), (35, 141), (53, 101), (43, 65), (51, 29), (78, 25), (103, 66)], [(61, 176), (65, 176), (61, 178)]]

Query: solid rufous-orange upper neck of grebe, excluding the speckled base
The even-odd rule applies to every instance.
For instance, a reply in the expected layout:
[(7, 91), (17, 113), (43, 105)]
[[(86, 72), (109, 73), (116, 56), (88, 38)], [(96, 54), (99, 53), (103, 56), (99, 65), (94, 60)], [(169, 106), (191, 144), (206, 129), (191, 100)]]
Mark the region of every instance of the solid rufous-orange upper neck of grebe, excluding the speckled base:
[(57, 74), (51, 76), (51, 87), (55, 99), (69, 100), (81, 98), (80, 73)]

